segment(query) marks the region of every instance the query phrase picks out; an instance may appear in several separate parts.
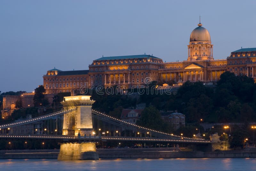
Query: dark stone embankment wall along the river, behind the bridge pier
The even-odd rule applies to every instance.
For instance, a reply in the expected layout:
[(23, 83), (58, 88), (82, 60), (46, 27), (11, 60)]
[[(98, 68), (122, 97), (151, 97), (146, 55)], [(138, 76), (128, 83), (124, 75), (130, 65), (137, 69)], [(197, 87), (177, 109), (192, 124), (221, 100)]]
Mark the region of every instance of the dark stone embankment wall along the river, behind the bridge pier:
[[(60, 150), (2, 150), (0, 159), (57, 159)], [(256, 158), (256, 151), (178, 151), (174, 148), (97, 149), (100, 159)]]

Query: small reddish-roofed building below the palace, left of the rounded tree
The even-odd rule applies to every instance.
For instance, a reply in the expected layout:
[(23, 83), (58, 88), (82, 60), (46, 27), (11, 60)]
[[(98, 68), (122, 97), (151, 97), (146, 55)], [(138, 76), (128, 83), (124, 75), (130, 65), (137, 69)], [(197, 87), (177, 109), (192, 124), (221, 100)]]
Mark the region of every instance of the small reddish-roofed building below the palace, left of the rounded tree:
[(143, 110), (144, 109), (123, 109), (120, 118), (125, 122), (136, 123), (140, 119)]

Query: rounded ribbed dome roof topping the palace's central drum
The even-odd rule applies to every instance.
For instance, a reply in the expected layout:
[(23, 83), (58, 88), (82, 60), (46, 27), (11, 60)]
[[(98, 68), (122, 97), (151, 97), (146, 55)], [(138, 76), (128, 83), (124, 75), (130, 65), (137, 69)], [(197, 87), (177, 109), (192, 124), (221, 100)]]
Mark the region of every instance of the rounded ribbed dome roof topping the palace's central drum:
[(211, 41), (211, 36), (208, 30), (199, 23), (190, 34), (190, 41)]

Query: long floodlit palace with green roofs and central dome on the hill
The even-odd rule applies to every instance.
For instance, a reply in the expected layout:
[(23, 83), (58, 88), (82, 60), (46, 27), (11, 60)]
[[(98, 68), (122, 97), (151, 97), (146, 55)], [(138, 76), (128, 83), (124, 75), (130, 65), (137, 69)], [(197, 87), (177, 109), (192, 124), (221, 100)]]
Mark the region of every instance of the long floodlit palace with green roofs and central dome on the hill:
[(121, 85), (126, 88), (148, 81), (183, 83), (216, 82), (225, 71), (256, 79), (256, 48), (241, 48), (227, 59), (214, 60), (211, 36), (199, 23), (190, 34), (188, 58), (182, 62), (163, 62), (152, 55), (101, 57), (93, 60), (89, 70), (60, 71), (52, 69), (43, 76), (46, 93), (79, 90), (81, 86)]

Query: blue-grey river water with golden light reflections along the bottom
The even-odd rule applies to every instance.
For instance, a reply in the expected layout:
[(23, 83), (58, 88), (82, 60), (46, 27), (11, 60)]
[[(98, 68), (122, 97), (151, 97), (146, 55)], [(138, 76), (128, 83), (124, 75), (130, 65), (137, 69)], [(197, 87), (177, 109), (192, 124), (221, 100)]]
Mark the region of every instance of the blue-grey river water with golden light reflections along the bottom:
[(50, 159), (0, 160), (2, 171), (215, 171), (256, 170), (254, 158), (205, 158), (205, 159), (116, 159), (58, 161)]

